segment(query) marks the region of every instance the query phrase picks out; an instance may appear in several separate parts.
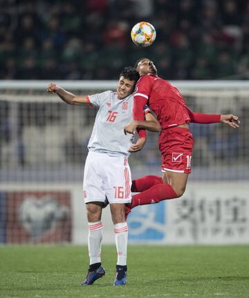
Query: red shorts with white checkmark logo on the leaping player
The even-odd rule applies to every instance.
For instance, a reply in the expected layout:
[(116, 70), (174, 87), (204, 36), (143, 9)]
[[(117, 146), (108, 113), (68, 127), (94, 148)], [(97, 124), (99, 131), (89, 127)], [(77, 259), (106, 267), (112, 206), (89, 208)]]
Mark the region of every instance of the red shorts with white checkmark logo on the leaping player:
[(176, 127), (162, 130), (159, 137), (162, 172), (190, 174), (193, 146), (194, 139), (188, 128)]

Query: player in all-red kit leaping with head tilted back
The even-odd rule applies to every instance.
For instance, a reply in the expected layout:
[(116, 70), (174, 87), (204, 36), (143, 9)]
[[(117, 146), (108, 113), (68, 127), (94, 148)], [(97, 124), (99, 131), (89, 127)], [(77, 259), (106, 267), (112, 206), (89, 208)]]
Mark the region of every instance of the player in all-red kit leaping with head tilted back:
[(147, 58), (136, 62), (140, 79), (136, 84), (133, 102), (133, 119), (124, 128), (124, 133), (138, 131), (138, 141), (130, 152), (142, 148), (146, 141), (144, 106), (153, 110), (161, 126), (159, 150), (162, 154), (163, 177), (149, 175), (133, 180), (133, 195), (129, 208), (148, 203), (158, 203), (165, 199), (181, 197), (185, 192), (187, 177), (191, 172), (192, 149), (194, 139), (189, 130), (189, 123), (223, 122), (232, 128), (239, 127), (239, 118), (229, 115), (207, 115), (192, 112), (186, 106), (181, 92), (168, 81), (158, 77), (156, 66)]

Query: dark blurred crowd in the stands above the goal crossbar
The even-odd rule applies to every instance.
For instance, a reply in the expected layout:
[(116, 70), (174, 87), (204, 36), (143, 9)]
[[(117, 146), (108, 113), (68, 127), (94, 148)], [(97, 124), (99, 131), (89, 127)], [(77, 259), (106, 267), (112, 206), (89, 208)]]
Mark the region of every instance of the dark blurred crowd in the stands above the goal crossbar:
[(144, 56), (165, 79), (248, 79), (248, 25), (247, 0), (0, 0), (0, 79), (117, 79)]

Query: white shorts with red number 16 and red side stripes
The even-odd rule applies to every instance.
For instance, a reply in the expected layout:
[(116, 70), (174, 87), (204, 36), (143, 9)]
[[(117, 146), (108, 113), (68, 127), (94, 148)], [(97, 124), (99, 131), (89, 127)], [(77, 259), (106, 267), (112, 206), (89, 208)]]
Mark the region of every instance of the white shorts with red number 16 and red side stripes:
[(128, 158), (90, 151), (83, 181), (84, 202), (107, 199), (109, 203), (131, 202), (131, 170)]

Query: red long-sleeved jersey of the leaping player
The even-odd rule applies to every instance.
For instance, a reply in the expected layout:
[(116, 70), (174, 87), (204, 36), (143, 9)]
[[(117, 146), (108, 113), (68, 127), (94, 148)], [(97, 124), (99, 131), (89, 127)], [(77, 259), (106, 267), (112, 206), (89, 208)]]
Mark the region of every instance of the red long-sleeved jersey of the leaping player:
[[(153, 74), (145, 74), (138, 80), (134, 93), (133, 119), (144, 119), (144, 106), (148, 104), (154, 110), (162, 128), (180, 126), (184, 123), (216, 123), (221, 115), (208, 115), (192, 112), (186, 106), (181, 92), (168, 81)], [(140, 137), (144, 133), (138, 132)]]

